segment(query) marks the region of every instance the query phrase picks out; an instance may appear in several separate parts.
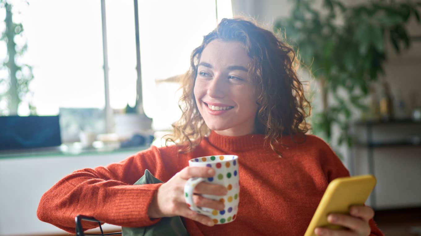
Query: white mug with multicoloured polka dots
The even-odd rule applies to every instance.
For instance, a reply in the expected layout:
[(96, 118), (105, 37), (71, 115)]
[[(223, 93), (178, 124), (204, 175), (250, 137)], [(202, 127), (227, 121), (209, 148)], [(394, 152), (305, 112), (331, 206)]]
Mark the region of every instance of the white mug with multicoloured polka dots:
[[(238, 156), (215, 155), (198, 157), (189, 160), (189, 166), (210, 167), (216, 172), (212, 178), (189, 178), (184, 185), (184, 198), (189, 208), (199, 214), (208, 215), (215, 224), (226, 224), (235, 220), (240, 202), (240, 186), (238, 173)], [(225, 209), (218, 211), (207, 207), (197, 207), (193, 202), (193, 189), (201, 182), (226, 186), (226, 196), (203, 194), (203, 197), (214, 199), (225, 204)]]

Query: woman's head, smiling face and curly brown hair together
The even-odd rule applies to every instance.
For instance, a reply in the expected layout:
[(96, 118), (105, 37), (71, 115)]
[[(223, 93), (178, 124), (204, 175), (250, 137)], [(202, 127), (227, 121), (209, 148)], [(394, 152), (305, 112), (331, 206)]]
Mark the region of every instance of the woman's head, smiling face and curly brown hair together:
[(257, 133), (281, 156), (278, 138), (309, 130), (305, 118), (311, 107), (298, 64), (293, 49), (272, 32), (248, 21), (221, 22), (192, 52), (181, 87), (183, 115), (167, 142), (188, 151), (210, 130), (227, 136)]

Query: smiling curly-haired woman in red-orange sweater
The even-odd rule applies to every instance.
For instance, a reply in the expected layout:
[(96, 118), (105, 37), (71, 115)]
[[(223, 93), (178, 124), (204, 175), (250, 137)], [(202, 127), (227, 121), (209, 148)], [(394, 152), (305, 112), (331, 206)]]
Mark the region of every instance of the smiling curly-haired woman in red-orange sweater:
[[(179, 215), (190, 235), (303, 235), (328, 183), (349, 172), (325, 142), (305, 135), (310, 108), (296, 65), (293, 50), (270, 31), (223, 19), (192, 53), (183, 115), (168, 139), (177, 145), (152, 146), (120, 163), (71, 173), (43, 195), (38, 218), (75, 232), (78, 214), (126, 227)], [(215, 174), (188, 167), (189, 159), (223, 154), (239, 156), (241, 200), (236, 220), (214, 226), (187, 207), (183, 189), (189, 178)], [(164, 184), (132, 185), (145, 169)], [(195, 192), (224, 196), (227, 189), (201, 183)], [(195, 203), (224, 209), (199, 195)], [(316, 233), (383, 235), (373, 214), (370, 207), (353, 206), (352, 216), (328, 217), (348, 230)]]

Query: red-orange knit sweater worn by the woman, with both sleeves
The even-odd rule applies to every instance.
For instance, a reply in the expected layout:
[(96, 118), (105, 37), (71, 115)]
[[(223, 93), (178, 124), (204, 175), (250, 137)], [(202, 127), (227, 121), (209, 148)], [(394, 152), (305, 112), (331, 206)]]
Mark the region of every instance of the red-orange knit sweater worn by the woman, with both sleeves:
[[(299, 139), (299, 138), (298, 138)], [(302, 138), (301, 138), (302, 139)], [(188, 160), (209, 155), (238, 155), (240, 203), (236, 219), (208, 227), (182, 218), (190, 235), (304, 235), (329, 182), (349, 176), (332, 149), (316, 136), (293, 142), (279, 140), (279, 157), (261, 134), (239, 137), (211, 132), (192, 151), (176, 146), (150, 147), (127, 159), (93, 169), (77, 170), (61, 179), (40, 200), (37, 215), (65, 231), (75, 233), (75, 216), (92, 216), (125, 227), (149, 226), (147, 209), (161, 184), (133, 185), (145, 169), (166, 182), (188, 166)], [(95, 228), (96, 223), (84, 223)], [(370, 220), (372, 233), (383, 234)]]

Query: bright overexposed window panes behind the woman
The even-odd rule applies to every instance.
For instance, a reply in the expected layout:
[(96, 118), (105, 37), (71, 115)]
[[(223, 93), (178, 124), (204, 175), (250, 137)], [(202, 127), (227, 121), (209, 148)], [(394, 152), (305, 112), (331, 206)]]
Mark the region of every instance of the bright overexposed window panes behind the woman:
[[(121, 110), (136, 102), (134, 7), (133, 1), (105, 2), (110, 104)], [(16, 12), (13, 21), (22, 23), (21, 40), (28, 45), (21, 60), (33, 66), (29, 88), (37, 114), (61, 113), (64, 142), (76, 141), (77, 133), (87, 127), (103, 133), (101, 1), (11, 3)], [(216, 1), (141, 0), (138, 4), (144, 111), (154, 119), (155, 129), (165, 130), (181, 114), (175, 93), (179, 85), (163, 81), (189, 68), (190, 53), (216, 26)], [(3, 11), (0, 17), (4, 18)], [(218, 18), (223, 17), (232, 17), (229, 0), (218, 1)], [(0, 52), (4, 51), (0, 45)], [(29, 109), (21, 105), (18, 114), (29, 115)]]

